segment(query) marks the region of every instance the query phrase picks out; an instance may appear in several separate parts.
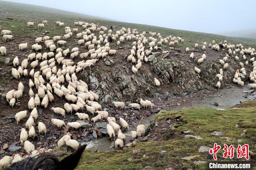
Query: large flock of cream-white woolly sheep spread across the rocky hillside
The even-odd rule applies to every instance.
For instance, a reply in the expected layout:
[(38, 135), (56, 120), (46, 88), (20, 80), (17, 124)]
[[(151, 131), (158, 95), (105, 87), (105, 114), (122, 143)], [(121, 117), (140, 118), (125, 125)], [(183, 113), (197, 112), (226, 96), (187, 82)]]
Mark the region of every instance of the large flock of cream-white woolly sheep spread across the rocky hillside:
[[(44, 20), (42, 23), (38, 24), (38, 29), (43, 28), (44, 25), (47, 24), (47, 21)], [(63, 22), (56, 22), (56, 25), (59, 27), (63, 27)], [(13, 60), (14, 67), (11, 69), (12, 76), (14, 76), (16, 79), (19, 79), (21, 76), (30, 76), (31, 79), (29, 80), (28, 84), (30, 87), (29, 90), (29, 96), (30, 100), (27, 104), (28, 109), (31, 110), (30, 116), (26, 121), (26, 128), (29, 129), (29, 132), (27, 133), (26, 128), (22, 128), (20, 132), (20, 142), (24, 143), (24, 148), (30, 157), (33, 157), (35, 155), (40, 154), (41, 152), (50, 151), (50, 150), (35, 150), (34, 145), (27, 140), (28, 138), (33, 139), (35, 137), (35, 121), (38, 118), (38, 111), (37, 108), (39, 106), (44, 107), (45, 109), (48, 107), (49, 102), (54, 101), (54, 96), (52, 93), (56, 94), (58, 97), (65, 97), (67, 100), (67, 103), (63, 105), (63, 108), (60, 107), (52, 107), (52, 111), (58, 115), (61, 115), (65, 118), (65, 114), (67, 113), (73, 113), (75, 112), (75, 115), (78, 116), (78, 119), (80, 120), (88, 120), (89, 121), (89, 115), (91, 114), (94, 116), (95, 113), (97, 113), (97, 116), (91, 118), (91, 120), (95, 123), (97, 121), (102, 121), (103, 119), (106, 119), (108, 121), (107, 124), (107, 132), (109, 135), (109, 138), (114, 140), (116, 138), (117, 133), (117, 139), (115, 140), (114, 148), (123, 149), (124, 142), (125, 142), (125, 135), (122, 133), (120, 125), (123, 129), (128, 129), (129, 125), (128, 123), (123, 119), (119, 118), (119, 124), (116, 123), (115, 117), (109, 117), (109, 113), (107, 111), (102, 111), (101, 105), (98, 103), (99, 96), (98, 94), (94, 93), (91, 90), (88, 90), (88, 85), (86, 82), (82, 80), (78, 80), (76, 77), (76, 74), (81, 72), (82, 70), (86, 69), (87, 67), (95, 66), (95, 63), (99, 61), (99, 59), (105, 58), (107, 55), (116, 55), (116, 50), (110, 49), (109, 47), (109, 39), (113, 41), (117, 40), (117, 46), (119, 46), (121, 43), (123, 43), (125, 40), (128, 42), (132, 40), (132, 49), (131, 54), (127, 57), (127, 62), (132, 63), (132, 73), (136, 74), (138, 70), (142, 67), (143, 62), (148, 62), (148, 56), (151, 54), (153, 50), (158, 50), (158, 46), (161, 46), (162, 44), (168, 44), (168, 40), (170, 40), (169, 45), (174, 46), (177, 43), (183, 43), (184, 39), (180, 38), (179, 36), (176, 38), (175, 36), (172, 37), (166, 36), (166, 38), (162, 38), (160, 33), (156, 32), (149, 32), (149, 37), (146, 38), (146, 32), (143, 31), (141, 34), (136, 29), (133, 29), (131, 32), (130, 28), (121, 28), (121, 30), (117, 30), (116, 34), (112, 34), (112, 30), (108, 30), (106, 27), (101, 26), (99, 27), (97, 24), (94, 23), (86, 23), (86, 22), (75, 22), (75, 26), (82, 27), (82, 32), (78, 32), (78, 28), (71, 29), (70, 27), (65, 27), (65, 34), (63, 36), (56, 35), (53, 36), (52, 39), (50, 39), (49, 36), (39, 37), (35, 39), (35, 44), (31, 46), (32, 50), (34, 50), (36, 53), (31, 53), (28, 55), (27, 59), (24, 59), (21, 63), (19, 61), (18, 57), (15, 57)], [(33, 22), (27, 23), (28, 27), (33, 27)], [(99, 36), (95, 36), (93, 32), (97, 31)], [(81, 53), (79, 55), (79, 48), (74, 47), (71, 49), (71, 52), (69, 49), (61, 49), (57, 48), (57, 46), (64, 46), (65, 43), (69, 38), (73, 36), (73, 33), (76, 33), (76, 38), (78, 38), (78, 45), (84, 45), (86, 49), (88, 49), (88, 52)], [(13, 38), (12, 32), (10, 30), (2, 30), (1, 34), (3, 35), (3, 40), (9, 41)], [(155, 38), (155, 36), (157, 38)], [(136, 41), (134, 41), (136, 40)], [(57, 42), (56, 42), (57, 41)], [(149, 43), (148, 43), (149, 42)], [(56, 44), (55, 44), (56, 43)], [(149, 48), (146, 49), (145, 44), (148, 43)], [(255, 49), (248, 48), (245, 49), (241, 44), (240, 45), (231, 45), (227, 44), (226, 40), (224, 43), (215, 44), (215, 41), (213, 40), (212, 43), (214, 45), (208, 44), (209, 48), (212, 48), (213, 50), (220, 50), (220, 48), (227, 48), (228, 53), (223, 60), (220, 59), (220, 63), (223, 65), (223, 69), (227, 69), (228, 63), (225, 63), (230, 57), (234, 57), (236, 61), (239, 61), (241, 56), (244, 60), (246, 60), (245, 54), (250, 54), (252, 58), (249, 59), (250, 62), (253, 64), (253, 70), (250, 73), (250, 80), (254, 82), (253, 84), (250, 84), (251, 88), (256, 88), (256, 61), (254, 55)], [(38, 53), (38, 51), (42, 52), (42, 45), (45, 45), (46, 49), (49, 49), (49, 52), (45, 53)], [(101, 46), (104, 44), (103, 46)], [(96, 46), (96, 49), (95, 49)], [(198, 44), (195, 44), (195, 48), (198, 48)], [(203, 43), (202, 49), (205, 50), (207, 47), (207, 43)], [(28, 48), (28, 43), (22, 43), (19, 45), (19, 50), (24, 50)], [(189, 48), (187, 47), (185, 51), (188, 53)], [(7, 55), (7, 50), (4, 46), (0, 47), (0, 53), (2, 55)], [(239, 54), (236, 56), (236, 54)], [(70, 59), (67, 59), (66, 57), (70, 54)], [(90, 57), (90, 59), (87, 59)], [(194, 54), (191, 53), (189, 55), (190, 59), (193, 59)], [(73, 61), (74, 58), (80, 58), (82, 61), (79, 61), (75, 64)], [(87, 60), (85, 60), (87, 59)], [(197, 60), (198, 65), (204, 62), (206, 59), (206, 55), (203, 54), (202, 58), (199, 58)], [(242, 59), (242, 58), (241, 58)], [(39, 63), (40, 62), (40, 63)], [(30, 63), (31, 70), (27, 70), (27, 66)], [(38, 69), (38, 64), (40, 69)], [(135, 65), (136, 64), (136, 65)], [(58, 69), (57, 65), (61, 65)], [(135, 66), (134, 66), (135, 65)], [(245, 65), (248, 65), (248, 61), (245, 62)], [(241, 73), (243, 75), (246, 75), (246, 71), (244, 68), (244, 63), (240, 62)], [(18, 67), (18, 69), (16, 69)], [(195, 67), (195, 72), (200, 74), (201, 70), (198, 67)], [(221, 81), (223, 78), (223, 70), (219, 70), (219, 74), (216, 75), (218, 78), (218, 82), (216, 84), (217, 88), (220, 88)], [(65, 87), (64, 83), (67, 82), (68, 86)], [(234, 75), (233, 82), (243, 86), (244, 82), (240, 78), (240, 72), (239, 70), (236, 71)], [(160, 82), (157, 80), (157, 78), (154, 78), (154, 85), (160, 86)], [(37, 89), (37, 93), (34, 94), (34, 90)], [(6, 100), (10, 104), (10, 106), (13, 108), (15, 107), (16, 100), (21, 98), (24, 93), (24, 85), (22, 82), (19, 82), (18, 84), (18, 90), (10, 90), (6, 94)], [(117, 108), (125, 108), (124, 102), (118, 102), (113, 101), (112, 104)], [(152, 103), (149, 100), (142, 100), (140, 99), (140, 104), (137, 103), (131, 103), (129, 104), (134, 109), (139, 109), (140, 106), (147, 108), (152, 108)], [(84, 111), (84, 108), (86, 108), (86, 112), (89, 114), (86, 114)], [(28, 111), (20, 111), (15, 114), (15, 119), (17, 124), (23, 119), (27, 117)], [(60, 119), (52, 119), (52, 124), (55, 125), (58, 128), (62, 128), (65, 126), (65, 122)], [(38, 122), (38, 132), (39, 134), (46, 135), (47, 128), (43, 122)], [(69, 122), (67, 125), (73, 129), (79, 129), (80, 123), (78, 122)], [(136, 131), (132, 131), (132, 140), (135, 140), (137, 137), (144, 136), (146, 131), (146, 127), (143, 124), (140, 124), (136, 127)], [(77, 150), (79, 147), (79, 142), (71, 139), (69, 135), (64, 135), (61, 139), (59, 139), (58, 146), (69, 146), (73, 148), (74, 150)], [(25, 156), (27, 157), (27, 155)], [(4, 168), (10, 163), (17, 162), (22, 160), (23, 158), (21, 155), (14, 154), (13, 157), (5, 156), (0, 160), (0, 167)]]

